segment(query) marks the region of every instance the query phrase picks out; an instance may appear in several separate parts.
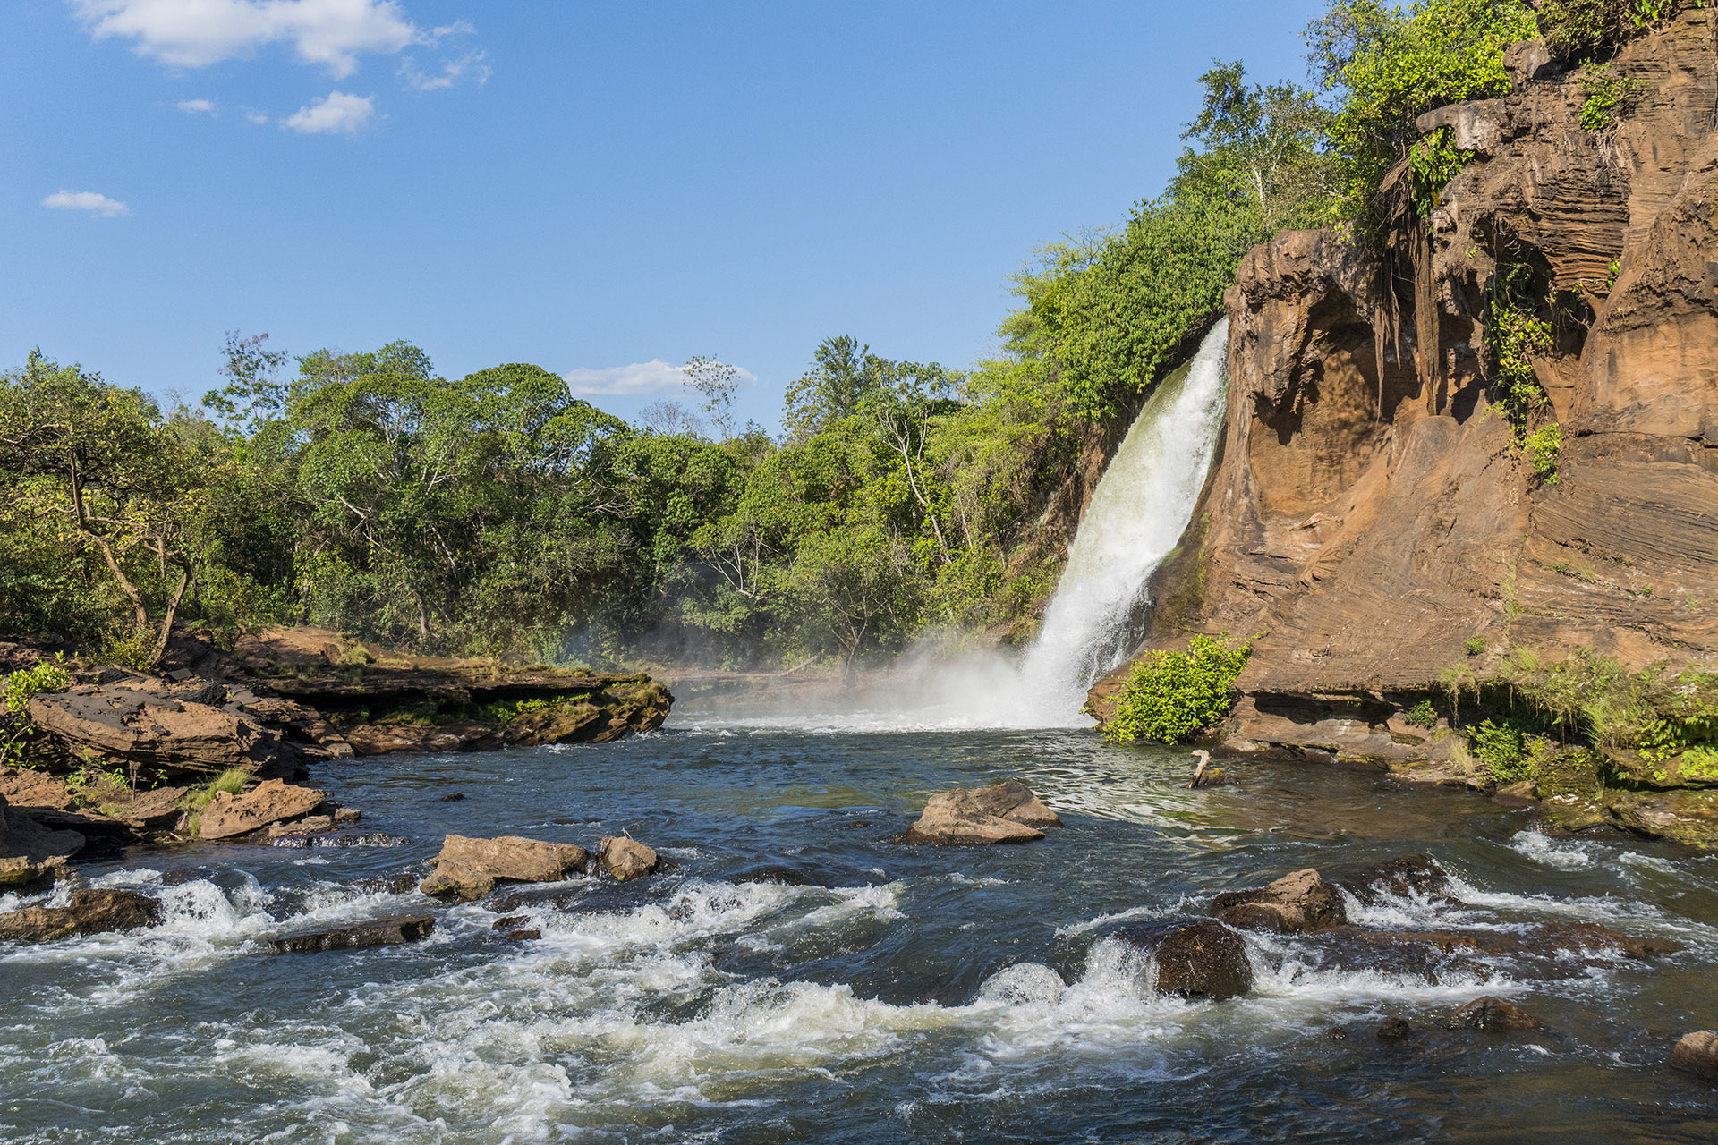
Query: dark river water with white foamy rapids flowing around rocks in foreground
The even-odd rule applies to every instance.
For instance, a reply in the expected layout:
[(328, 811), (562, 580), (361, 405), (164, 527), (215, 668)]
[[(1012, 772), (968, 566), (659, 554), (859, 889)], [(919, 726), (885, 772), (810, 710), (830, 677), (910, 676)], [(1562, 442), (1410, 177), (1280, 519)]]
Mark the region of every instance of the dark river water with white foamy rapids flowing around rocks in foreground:
[[(1718, 1025), (1718, 858), (1551, 839), (1527, 812), (1374, 772), (1187, 757), (1089, 731), (838, 731), (677, 714), (601, 747), (323, 764), (397, 846), (191, 846), (91, 863), (167, 924), (0, 948), (0, 1140), (24, 1142), (1711, 1142), (1718, 1092), (1666, 1071)], [(1026, 779), (1039, 843), (892, 841), (952, 785)], [(459, 802), (443, 797), (460, 793)], [(375, 881), (443, 833), (675, 869), (514, 910)], [(1182, 1001), (1118, 927), (1201, 915), (1294, 869), (1423, 851), (1450, 900), (1350, 903), (1371, 929), (1591, 920), (1629, 960), (1515, 953), (1338, 968), (1247, 936), (1254, 991)], [(759, 863), (821, 886), (744, 882)], [(34, 901), (34, 900), (31, 900)], [(0, 898), (0, 908), (21, 905)], [(431, 913), (423, 942), (273, 954), (268, 937)], [(1447, 1030), (1498, 994), (1539, 1030)], [(1381, 1042), (1385, 1016), (1414, 1028)], [(1335, 1040), (1331, 1032), (1345, 1033)]]

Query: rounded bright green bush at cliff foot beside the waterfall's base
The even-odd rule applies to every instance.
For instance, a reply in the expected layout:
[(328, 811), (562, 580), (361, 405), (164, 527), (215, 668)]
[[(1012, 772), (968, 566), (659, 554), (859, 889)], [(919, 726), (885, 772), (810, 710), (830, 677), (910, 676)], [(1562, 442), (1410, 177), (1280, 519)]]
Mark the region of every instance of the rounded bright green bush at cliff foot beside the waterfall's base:
[(1228, 647), (1227, 632), (1215, 639), (1196, 635), (1185, 652), (1148, 652), (1122, 685), (1105, 738), (1185, 743), (1235, 707), (1230, 688), (1251, 654), (1247, 644)]

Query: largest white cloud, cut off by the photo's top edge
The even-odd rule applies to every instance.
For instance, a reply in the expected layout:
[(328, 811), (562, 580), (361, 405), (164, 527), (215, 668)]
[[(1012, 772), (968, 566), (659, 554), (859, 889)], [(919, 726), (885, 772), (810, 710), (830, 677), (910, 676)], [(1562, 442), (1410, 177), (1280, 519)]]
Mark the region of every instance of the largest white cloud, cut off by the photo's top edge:
[(306, 64), (335, 79), (359, 55), (393, 55), (433, 45), (469, 26), (423, 33), (397, 0), (70, 0), (89, 34), (134, 41), (137, 55), (174, 67), (208, 67), (268, 43), (290, 43)]

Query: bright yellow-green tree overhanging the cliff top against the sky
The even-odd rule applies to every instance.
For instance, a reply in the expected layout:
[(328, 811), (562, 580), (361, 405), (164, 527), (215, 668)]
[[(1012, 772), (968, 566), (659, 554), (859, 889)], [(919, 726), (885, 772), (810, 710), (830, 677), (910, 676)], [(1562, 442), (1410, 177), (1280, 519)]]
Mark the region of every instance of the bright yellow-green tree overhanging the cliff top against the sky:
[[(1335, 0), (1307, 27), (1307, 45), (1313, 72), (1337, 96), (1330, 134), (1347, 163), (1343, 213), (1371, 221), (1385, 173), (1419, 137), (1414, 120), (1421, 113), (1507, 94), (1503, 50), (1536, 31), (1524, 0), (1419, 0), (1402, 7)], [(1426, 154), (1421, 163), (1441, 177), (1450, 156)]]

